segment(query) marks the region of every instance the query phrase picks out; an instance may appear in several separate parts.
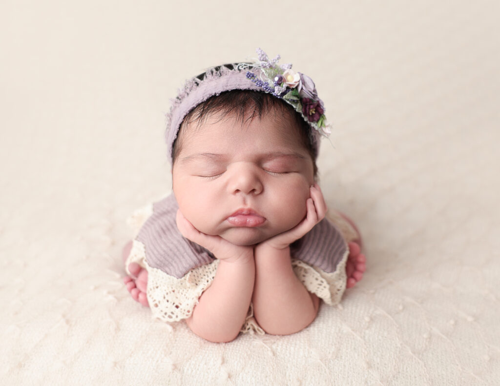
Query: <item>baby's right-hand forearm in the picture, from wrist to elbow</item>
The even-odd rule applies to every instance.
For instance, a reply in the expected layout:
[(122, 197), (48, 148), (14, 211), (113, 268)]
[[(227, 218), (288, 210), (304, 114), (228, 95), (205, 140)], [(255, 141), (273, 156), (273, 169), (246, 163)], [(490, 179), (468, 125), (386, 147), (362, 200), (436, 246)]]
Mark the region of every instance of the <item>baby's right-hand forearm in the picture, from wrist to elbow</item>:
[(305, 289), (290, 262), (290, 249), (255, 247), (253, 312), (264, 331), (285, 335), (300, 331), (317, 314), (319, 299)]

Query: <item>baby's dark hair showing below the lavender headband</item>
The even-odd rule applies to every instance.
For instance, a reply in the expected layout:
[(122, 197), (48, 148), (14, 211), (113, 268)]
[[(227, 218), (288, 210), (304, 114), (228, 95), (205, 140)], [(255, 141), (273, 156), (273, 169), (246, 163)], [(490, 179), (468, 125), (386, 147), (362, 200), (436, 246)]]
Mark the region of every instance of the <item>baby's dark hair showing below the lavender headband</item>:
[(219, 95), (210, 96), (189, 111), (182, 120), (177, 138), (175, 138), (172, 144), (172, 164), (175, 162), (175, 158), (180, 152), (181, 143), (180, 145), (177, 143), (179, 136), (182, 135), (183, 129), (185, 129), (188, 124), (196, 122), (197, 127), (199, 127), (203, 120), (213, 113), (219, 114), (220, 119), (231, 114), (237, 119), (240, 119), (243, 124), (245, 121), (249, 122), (254, 117), (260, 118), (262, 115), (271, 111), (276, 114), (277, 119), (282, 119), (286, 115), (292, 118), (302, 143), (311, 156), (314, 167), (314, 177), (316, 177), (317, 166), (315, 158), (317, 154), (315, 154), (312, 146), (311, 128), (309, 124), (288, 103), (268, 93), (253, 90), (224, 91)]

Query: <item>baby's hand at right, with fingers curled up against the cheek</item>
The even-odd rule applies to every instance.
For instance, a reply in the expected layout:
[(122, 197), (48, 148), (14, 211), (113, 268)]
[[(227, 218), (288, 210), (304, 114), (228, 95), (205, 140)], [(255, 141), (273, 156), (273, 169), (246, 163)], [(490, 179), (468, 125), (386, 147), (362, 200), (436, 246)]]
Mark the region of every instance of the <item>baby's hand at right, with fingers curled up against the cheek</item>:
[(271, 246), (275, 249), (286, 248), (293, 241), (298, 240), (305, 233), (311, 230), (314, 225), (324, 218), (328, 209), (319, 185), (315, 183), (310, 187), (309, 191), (310, 198), (307, 198), (305, 201), (307, 207), (305, 218), (293, 228), (283, 233), (279, 233), (274, 237), (263, 241), (261, 244), (266, 244), (267, 246)]

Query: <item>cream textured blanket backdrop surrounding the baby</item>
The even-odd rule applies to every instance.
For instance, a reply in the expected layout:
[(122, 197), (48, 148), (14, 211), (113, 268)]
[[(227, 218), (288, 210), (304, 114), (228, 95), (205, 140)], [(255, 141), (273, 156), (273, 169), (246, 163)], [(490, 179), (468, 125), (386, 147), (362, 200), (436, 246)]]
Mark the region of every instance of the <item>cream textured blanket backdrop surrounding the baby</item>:
[[(494, 385), (497, 1), (2, 1), (4, 384)], [(321, 186), (367, 272), (306, 330), (211, 344), (121, 277), (125, 218), (170, 189), (185, 77), (260, 46), (333, 123)]]

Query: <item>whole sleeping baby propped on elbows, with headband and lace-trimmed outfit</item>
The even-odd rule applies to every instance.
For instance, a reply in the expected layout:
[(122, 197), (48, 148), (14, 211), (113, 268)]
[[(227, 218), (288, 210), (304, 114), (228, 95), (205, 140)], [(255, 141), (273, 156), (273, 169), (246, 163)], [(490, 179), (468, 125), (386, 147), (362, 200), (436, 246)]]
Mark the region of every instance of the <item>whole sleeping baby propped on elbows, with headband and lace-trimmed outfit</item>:
[(215, 342), (300, 331), (319, 298), (338, 302), (365, 270), (354, 224), (325, 218), (315, 159), (329, 130), (314, 83), (257, 52), (191, 79), (174, 100), (173, 193), (123, 250), (132, 297)]

